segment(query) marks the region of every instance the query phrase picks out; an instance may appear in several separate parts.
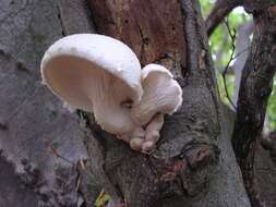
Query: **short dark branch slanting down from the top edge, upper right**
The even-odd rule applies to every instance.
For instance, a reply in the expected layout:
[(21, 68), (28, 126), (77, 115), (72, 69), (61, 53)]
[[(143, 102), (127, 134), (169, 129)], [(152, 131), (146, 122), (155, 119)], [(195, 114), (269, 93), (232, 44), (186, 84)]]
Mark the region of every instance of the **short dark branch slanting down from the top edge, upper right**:
[(205, 23), (207, 35), (211, 36), (219, 23), (237, 7), (242, 0), (217, 0), (213, 10), (208, 14)]

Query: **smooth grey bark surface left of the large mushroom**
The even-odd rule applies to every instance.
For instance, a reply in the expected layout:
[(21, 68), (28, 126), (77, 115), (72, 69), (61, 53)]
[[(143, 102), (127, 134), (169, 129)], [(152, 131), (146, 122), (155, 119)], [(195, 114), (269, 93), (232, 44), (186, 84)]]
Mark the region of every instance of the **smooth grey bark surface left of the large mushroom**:
[[(76, 206), (87, 157), (77, 115), (40, 84), (46, 48), (62, 36), (56, 1), (0, 0), (0, 206)], [(74, 146), (74, 147), (72, 147)]]

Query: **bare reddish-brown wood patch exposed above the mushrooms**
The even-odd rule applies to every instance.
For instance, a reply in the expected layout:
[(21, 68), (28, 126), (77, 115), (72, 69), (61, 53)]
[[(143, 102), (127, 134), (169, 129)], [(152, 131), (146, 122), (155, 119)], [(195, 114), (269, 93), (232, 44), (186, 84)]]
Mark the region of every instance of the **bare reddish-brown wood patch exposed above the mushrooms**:
[(164, 61), (167, 64), (173, 62), (170, 69), (185, 66), (183, 24), (178, 0), (88, 2), (97, 33), (124, 41), (143, 65), (170, 59)]

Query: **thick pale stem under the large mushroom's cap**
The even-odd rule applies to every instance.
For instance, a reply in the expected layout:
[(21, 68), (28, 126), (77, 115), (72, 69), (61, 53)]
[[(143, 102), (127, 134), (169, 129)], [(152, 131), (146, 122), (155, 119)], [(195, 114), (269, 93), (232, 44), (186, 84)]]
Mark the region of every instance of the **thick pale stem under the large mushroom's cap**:
[[(112, 77), (107, 74), (97, 75), (93, 82), (93, 93), (89, 93), (89, 99), (93, 102), (97, 123), (103, 130), (118, 136), (131, 134), (136, 126), (130, 117), (130, 108), (122, 106), (122, 98), (115, 93), (115, 84), (118, 85), (118, 83), (115, 83)], [(95, 84), (95, 82), (100, 82), (101, 85)], [(95, 88), (96, 86), (99, 87)], [(128, 142), (128, 138), (122, 139)]]

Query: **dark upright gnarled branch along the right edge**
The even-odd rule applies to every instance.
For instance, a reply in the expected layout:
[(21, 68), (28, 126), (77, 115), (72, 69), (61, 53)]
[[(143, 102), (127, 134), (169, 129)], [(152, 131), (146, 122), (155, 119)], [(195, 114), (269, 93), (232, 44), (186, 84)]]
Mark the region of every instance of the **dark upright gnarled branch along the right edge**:
[(232, 144), (252, 206), (263, 206), (254, 185), (254, 153), (276, 72), (276, 7), (253, 11), (256, 29), (242, 72)]

